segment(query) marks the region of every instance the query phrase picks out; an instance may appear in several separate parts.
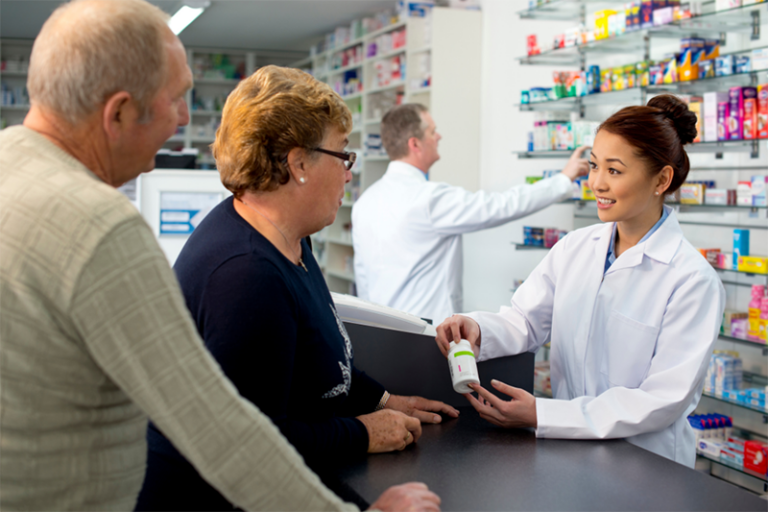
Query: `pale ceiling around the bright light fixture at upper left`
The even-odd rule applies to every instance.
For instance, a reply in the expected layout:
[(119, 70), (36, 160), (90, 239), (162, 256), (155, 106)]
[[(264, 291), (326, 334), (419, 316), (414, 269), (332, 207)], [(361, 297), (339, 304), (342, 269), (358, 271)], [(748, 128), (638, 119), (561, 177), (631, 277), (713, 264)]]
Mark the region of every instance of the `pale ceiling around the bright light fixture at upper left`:
[[(150, 0), (171, 13), (180, 0)], [(0, 0), (0, 38), (33, 39), (62, 0)], [(211, 0), (181, 33), (187, 46), (307, 51), (336, 26), (395, 0)]]

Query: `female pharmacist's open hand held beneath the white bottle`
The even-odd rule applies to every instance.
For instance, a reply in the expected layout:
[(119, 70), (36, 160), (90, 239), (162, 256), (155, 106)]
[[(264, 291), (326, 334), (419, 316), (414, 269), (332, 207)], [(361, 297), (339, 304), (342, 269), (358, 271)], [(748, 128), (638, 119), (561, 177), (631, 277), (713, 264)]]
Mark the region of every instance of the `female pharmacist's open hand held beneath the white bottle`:
[(464, 396), (480, 413), (481, 418), (505, 428), (536, 428), (538, 426), (536, 398), (532, 394), (496, 379), (491, 381), (491, 385), (505, 395), (511, 396), (512, 400), (506, 402), (479, 384), (469, 384), (469, 387), (477, 391), (477, 398), (469, 393)]

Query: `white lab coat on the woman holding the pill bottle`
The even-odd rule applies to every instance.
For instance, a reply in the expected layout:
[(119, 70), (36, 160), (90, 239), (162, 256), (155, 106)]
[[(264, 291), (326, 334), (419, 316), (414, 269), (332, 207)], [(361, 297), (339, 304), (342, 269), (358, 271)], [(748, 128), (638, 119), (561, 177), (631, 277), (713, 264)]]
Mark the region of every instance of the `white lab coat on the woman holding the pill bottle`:
[(725, 290), (683, 238), (677, 217), (621, 254), (603, 276), (613, 224), (558, 242), (499, 313), (472, 313), (479, 359), (551, 340), (554, 399), (536, 399), (539, 437), (627, 438), (693, 467), (687, 416), (725, 307)]

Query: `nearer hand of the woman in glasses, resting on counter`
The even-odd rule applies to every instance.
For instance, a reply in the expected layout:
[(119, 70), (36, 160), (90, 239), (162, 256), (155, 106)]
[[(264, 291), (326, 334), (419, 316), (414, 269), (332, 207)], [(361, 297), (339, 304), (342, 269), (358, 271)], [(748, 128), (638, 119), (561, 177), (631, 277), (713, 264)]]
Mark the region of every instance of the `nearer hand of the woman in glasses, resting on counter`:
[(368, 453), (402, 450), (421, 437), (421, 422), (400, 411), (382, 409), (357, 419), (368, 430)]

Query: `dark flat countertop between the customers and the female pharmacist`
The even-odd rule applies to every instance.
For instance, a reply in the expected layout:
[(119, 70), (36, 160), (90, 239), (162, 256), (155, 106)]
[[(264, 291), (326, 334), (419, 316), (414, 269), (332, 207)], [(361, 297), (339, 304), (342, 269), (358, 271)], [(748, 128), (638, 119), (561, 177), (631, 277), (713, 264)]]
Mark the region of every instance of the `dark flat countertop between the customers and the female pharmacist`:
[(424, 482), (444, 512), (768, 510), (754, 494), (626, 441), (537, 439), (495, 427), (471, 407), (424, 425), (404, 451), (370, 455), (340, 476), (369, 503), (392, 485)]

